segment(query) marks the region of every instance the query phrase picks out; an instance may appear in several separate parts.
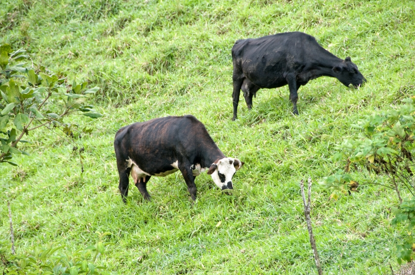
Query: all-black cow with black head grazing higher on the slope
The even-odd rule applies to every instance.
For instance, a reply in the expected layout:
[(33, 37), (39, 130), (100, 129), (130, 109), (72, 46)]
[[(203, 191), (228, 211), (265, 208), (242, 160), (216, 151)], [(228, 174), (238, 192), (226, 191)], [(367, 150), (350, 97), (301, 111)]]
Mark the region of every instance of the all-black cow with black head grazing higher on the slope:
[(297, 91), (309, 80), (333, 77), (346, 86), (353, 84), (355, 88), (366, 81), (350, 57), (339, 59), (321, 47), (312, 36), (300, 32), (237, 40), (232, 47), (232, 61), (232, 120), (236, 119), (241, 89), (251, 109), (252, 96), (259, 89), (288, 84), (292, 112), (298, 115)]

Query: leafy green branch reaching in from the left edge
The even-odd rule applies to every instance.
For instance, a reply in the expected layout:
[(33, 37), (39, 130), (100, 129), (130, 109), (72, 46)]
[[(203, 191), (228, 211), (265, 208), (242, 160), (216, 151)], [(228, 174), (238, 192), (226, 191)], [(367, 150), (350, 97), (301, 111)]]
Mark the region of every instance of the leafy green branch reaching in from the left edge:
[[(27, 59), (31, 60), (29, 66), (27, 62), (18, 63)], [(70, 115), (79, 114), (89, 118), (102, 117), (92, 105), (86, 103), (99, 88), (86, 89), (86, 86), (87, 82), (77, 84), (75, 80), (69, 84), (65, 74), (55, 74), (41, 64), (35, 67), (30, 55), (23, 49), (13, 52), (10, 45), (1, 45), (0, 163), (16, 165), (11, 161), (13, 157), (28, 155), (18, 149), (18, 144), (24, 142), (21, 139), (25, 134), (41, 127), (49, 130), (62, 128), (72, 138), (77, 137), (74, 131), (91, 133), (92, 129), (78, 129), (79, 125), (63, 121)], [(78, 151), (78, 146), (74, 148)], [(81, 156), (82, 152), (78, 152)]]

